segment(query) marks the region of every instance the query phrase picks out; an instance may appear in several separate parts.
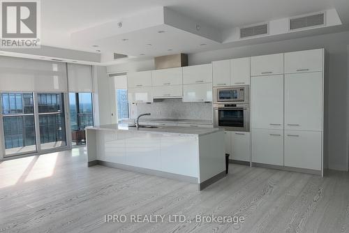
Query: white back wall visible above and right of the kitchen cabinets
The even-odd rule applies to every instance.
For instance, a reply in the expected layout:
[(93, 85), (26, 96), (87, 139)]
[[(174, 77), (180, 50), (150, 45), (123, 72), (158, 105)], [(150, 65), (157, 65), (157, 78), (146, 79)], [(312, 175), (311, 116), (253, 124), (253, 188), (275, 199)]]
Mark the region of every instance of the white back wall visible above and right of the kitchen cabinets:
[[(250, 57), (262, 54), (311, 50), (325, 47), (328, 55), (328, 151), (329, 168), (348, 171), (349, 107), (348, 107), (348, 54), (349, 31), (311, 36), (279, 42), (232, 47), (189, 54), (189, 65), (210, 63), (222, 59)], [(154, 69), (154, 61), (131, 62), (107, 68), (108, 72), (128, 72)], [(347, 127), (348, 126), (348, 127)]]

